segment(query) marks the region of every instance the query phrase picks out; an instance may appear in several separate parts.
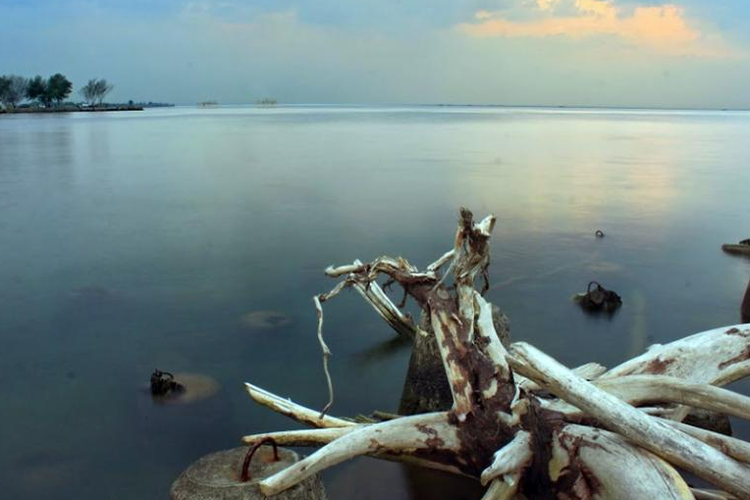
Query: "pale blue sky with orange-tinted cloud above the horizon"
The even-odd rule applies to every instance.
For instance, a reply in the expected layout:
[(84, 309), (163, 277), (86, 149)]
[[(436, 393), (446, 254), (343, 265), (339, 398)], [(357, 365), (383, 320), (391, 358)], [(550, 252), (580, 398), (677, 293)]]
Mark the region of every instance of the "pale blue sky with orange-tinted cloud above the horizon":
[(112, 101), (750, 108), (748, 0), (0, 0), (0, 74)]

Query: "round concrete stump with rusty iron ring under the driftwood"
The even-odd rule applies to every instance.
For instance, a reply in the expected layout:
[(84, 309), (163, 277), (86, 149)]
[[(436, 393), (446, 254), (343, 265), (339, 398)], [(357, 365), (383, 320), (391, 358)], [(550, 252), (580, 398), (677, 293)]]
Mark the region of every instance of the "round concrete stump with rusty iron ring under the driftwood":
[[(299, 455), (278, 449), (275, 460), (271, 447), (258, 449), (250, 462), (249, 479), (242, 481), (242, 465), (248, 448), (233, 448), (200, 458), (172, 484), (170, 500), (266, 500), (258, 483), (299, 461)], [(326, 500), (319, 476), (274, 495), (278, 500)]]

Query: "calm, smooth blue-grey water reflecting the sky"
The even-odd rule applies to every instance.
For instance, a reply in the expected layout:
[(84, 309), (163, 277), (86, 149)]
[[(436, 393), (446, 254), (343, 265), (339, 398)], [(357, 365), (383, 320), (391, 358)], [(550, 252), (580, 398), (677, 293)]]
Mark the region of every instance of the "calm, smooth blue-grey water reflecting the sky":
[[(750, 237), (748, 144), (739, 112), (2, 116), (0, 496), (164, 499), (199, 456), (293, 428), (242, 382), (324, 404), (321, 270), (381, 253), (425, 265), (450, 247), (461, 204), (498, 216), (489, 298), (513, 337), (564, 363), (612, 366), (734, 324), (750, 260), (719, 247)], [(613, 318), (571, 303), (591, 279), (622, 295)], [(253, 311), (289, 321), (248, 327)], [(408, 346), (353, 294), (327, 305), (326, 335), (332, 413), (395, 410)], [(156, 367), (221, 392), (154, 406), (142, 388)], [(418, 478), (369, 459), (327, 474), (330, 498), (363, 478), (358, 498), (420, 498)]]

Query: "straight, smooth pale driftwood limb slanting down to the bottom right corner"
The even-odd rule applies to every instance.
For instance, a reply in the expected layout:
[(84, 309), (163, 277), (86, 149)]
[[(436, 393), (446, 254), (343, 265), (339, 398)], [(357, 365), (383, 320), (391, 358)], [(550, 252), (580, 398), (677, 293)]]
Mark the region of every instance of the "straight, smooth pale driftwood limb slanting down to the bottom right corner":
[(693, 474), (750, 500), (750, 467), (715, 448), (645, 415), (525, 344), (513, 344), (514, 370), (577, 406), (604, 427)]

